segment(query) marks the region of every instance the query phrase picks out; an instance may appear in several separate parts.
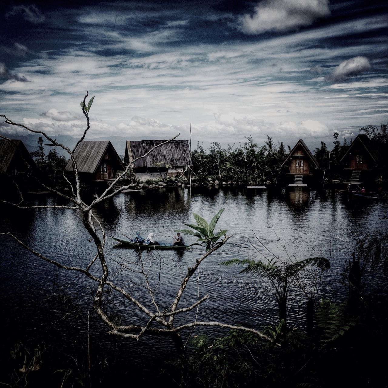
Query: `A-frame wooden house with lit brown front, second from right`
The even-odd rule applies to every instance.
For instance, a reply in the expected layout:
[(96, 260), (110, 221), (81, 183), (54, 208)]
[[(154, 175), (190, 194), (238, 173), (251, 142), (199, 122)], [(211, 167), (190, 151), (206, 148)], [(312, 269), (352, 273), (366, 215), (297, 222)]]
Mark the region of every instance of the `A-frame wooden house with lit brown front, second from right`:
[(289, 186), (307, 186), (307, 178), (313, 175), (313, 170), (319, 168), (317, 160), (302, 139), (299, 139), (288, 154), (281, 167), (287, 166), (286, 176), (290, 179)]

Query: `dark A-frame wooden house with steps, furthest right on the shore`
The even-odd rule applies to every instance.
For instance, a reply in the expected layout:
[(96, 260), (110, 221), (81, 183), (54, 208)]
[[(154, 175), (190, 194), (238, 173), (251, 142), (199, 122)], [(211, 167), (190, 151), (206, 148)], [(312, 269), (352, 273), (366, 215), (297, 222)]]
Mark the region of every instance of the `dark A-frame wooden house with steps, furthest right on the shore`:
[(365, 134), (357, 135), (352, 144), (341, 158), (345, 163), (344, 184), (360, 185), (365, 181), (373, 180), (372, 170), (378, 167), (381, 161), (379, 151)]

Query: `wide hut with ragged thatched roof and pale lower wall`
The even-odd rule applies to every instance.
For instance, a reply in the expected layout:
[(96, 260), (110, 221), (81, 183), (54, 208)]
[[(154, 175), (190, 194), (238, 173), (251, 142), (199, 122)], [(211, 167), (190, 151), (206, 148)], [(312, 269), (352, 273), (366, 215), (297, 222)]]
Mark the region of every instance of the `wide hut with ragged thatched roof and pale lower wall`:
[[(127, 140), (125, 146), (124, 163), (145, 155), (155, 145), (166, 140)], [(137, 159), (133, 170), (137, 180), (161, 179), (181, 175), (191, 166), (188, 140), (171, 140), (155, 148), (144, 158)]]

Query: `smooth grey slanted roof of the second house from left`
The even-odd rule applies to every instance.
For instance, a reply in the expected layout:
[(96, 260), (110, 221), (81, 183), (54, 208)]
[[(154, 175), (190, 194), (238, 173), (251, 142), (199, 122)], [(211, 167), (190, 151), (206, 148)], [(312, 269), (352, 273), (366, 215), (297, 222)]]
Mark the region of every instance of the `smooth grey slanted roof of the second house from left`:
[[(84, 140), (78, 144), (74, 152), (78, 172), (95, 173), (108, 149), (112, 156), (110, 158), (111, 162), (115, 162), (118, 170), (125, 170), (120, 157), (109, 140)], [(65, 170), (73, 171), (73, 162), (71, 159), (66, 165)]]

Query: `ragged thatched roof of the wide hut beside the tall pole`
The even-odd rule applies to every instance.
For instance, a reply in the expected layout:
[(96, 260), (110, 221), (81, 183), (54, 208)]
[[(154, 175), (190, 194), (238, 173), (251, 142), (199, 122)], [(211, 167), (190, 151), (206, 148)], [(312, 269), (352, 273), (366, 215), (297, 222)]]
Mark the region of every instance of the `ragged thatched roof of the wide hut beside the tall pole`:
[[(133, 159), (146, 154), (155, 145), (166, 140), (127, 140), (124, 161), (129, 163)], [(144, 158), (135, 161), (133, 167), (156, 167), (162, 165), (188, 166), (191, 164), (188, 140), (171, 140), (155, 148)]]

